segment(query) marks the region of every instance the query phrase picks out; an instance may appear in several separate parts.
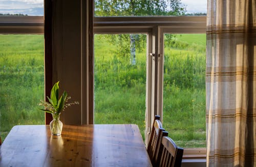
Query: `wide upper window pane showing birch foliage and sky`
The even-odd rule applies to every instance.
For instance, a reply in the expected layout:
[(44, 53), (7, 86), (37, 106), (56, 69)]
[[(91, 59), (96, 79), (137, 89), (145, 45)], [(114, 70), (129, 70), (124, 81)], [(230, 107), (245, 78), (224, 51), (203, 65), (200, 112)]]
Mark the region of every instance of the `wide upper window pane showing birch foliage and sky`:
[(95, 0), (95, 16), (206, 15), (207, 0)]

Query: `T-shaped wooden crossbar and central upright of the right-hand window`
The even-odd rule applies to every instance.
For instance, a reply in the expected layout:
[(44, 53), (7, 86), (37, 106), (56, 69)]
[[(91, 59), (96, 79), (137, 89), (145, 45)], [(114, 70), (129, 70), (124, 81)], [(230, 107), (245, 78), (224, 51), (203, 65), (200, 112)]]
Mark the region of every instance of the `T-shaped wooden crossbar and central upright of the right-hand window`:
[[(101, 19), (104, 22), (101, 24)], [(162, 115), (162, 96), (163, 96), (163, 70), (164, 70), (164, 61), (161, 58), (163, 54), (163, 33), (202, 33), (205, 31), (205, 17), (189, 17), (184, 16), (180, 17), (140, 17), (132, 18), (126, 17), (126, 22), (132, 22), (131, 28), (127, 28), (126, 22), (121, 22), (116, 19), (121, 18), (100, 18), (95, 17), (94, 22), (94, 32), (96, 34), (102, 33), (147, 33), (147, 67), (146, 67), (146, 134), (145, 139), (147, 140), (148, 132), (150, 132), (151, 121), (154, 118), (155, 114)], [(138, 21), (137, 19), (141, 19)], [(161, 20), (165, 19), (165, 20)], [(194, 20), (193, 20), (194, 19)], [(143, 20), (143, 21), (142, 21)], [(160, 20), (160, 21), (159, 21)], [(181, 21), (182, 20), (182, 21)], [(195, 21), (191, 23), (189, 21)], [(166, 22), (169, 22), (166, 24)], [(141, 23), (143, 22), (143, 23)], [(189, 22), (189, 25), (187, 25)], [(107, 24), (108, 26), (105, 26)], [(124, 24), (125, 26), (122, 26)], [(160, 25), (164, 26), (160, 26)], [(179, 24), (179, 26), (177, 26)], [(143, 26), (144, 25), (144, 26)], [(145, 27), (145, 25), (147, 25)], [(136, 26), (136, 28), (134, 28)], [(102, 28), (104, 27), (104, 29)], [(126, 27), (126, 29), (124, 28)], [(129, 32), (130, 31), (130, 32)], [(96, 41), (96, 40), (95, 40)], [(155, 53), (159, 55), (159, 59), (156, 61), (155, 58), (152, 58), (150, 53)], [(155, 62), (154, 62), (155, 60)], [(203, 67), (204, 68), (204, 67)], [(203, 111), (205, 112), (205, 111)], [(162, 118), (164, 115), (162, 116)], [(166, 121), (165, 121), (166, 122)]]

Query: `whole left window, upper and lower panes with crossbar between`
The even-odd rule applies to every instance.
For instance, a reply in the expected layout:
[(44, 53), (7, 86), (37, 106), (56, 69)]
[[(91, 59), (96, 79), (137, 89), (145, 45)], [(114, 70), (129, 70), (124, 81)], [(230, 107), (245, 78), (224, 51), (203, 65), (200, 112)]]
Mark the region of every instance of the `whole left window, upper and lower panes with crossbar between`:
[(0, 2), (0, 134), (14, 125), (44, 124), (44, 2)]

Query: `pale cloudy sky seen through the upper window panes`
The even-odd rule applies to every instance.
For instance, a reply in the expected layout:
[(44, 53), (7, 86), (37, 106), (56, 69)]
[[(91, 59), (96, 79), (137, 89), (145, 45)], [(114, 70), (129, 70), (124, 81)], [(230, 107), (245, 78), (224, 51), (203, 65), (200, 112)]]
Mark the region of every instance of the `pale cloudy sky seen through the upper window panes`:
[[(206, 13), (207, 0), (181, 0), (187, 13)], [(44, 0), (0, 0), (0, 13), (44, 15)]]

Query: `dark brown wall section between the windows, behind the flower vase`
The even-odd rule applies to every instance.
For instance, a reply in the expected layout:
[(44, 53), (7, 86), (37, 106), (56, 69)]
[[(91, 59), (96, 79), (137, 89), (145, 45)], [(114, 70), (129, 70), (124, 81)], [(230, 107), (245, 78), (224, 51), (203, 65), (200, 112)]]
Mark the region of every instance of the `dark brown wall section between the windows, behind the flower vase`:
[[(52, 1), (52, 80), (60, 81), (71, 101), (81, 103), (81, 17), (80, 0)], [(46, 9), (47, 11), (47, 9)], [(46, 48), (47, 49), (47, 48)], [(81, 124), (80, 105), (61, 113), (64, 124)]]

